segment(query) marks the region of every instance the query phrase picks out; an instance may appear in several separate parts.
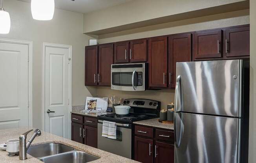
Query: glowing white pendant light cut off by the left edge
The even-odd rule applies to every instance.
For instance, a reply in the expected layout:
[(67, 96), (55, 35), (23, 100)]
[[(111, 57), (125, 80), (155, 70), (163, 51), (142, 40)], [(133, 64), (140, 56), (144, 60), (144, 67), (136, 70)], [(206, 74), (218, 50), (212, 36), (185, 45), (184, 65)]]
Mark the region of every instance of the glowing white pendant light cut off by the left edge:
[(11, 27), (11, 19), (9, 13), (3, 8), (3, 0), (1, 0), (0, 23), (0, 34), (9, 33)]

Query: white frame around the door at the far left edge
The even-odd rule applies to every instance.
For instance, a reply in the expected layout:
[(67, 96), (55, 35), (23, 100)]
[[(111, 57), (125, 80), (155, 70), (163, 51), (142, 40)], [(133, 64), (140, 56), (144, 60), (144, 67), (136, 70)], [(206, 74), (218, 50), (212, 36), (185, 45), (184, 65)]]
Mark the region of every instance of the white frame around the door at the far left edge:
[(0, 42), (28, 45), (28, 125), (33, 127), (33, 42), (0, 38)]

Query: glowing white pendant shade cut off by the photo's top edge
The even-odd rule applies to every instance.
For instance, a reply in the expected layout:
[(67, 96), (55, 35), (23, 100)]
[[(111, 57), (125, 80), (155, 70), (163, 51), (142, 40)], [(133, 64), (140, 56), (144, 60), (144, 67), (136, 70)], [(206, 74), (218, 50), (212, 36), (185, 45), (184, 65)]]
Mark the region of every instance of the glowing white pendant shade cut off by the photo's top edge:
[(31, 0), (31, 13), (35, 20), (52, 20), (54, 0)]

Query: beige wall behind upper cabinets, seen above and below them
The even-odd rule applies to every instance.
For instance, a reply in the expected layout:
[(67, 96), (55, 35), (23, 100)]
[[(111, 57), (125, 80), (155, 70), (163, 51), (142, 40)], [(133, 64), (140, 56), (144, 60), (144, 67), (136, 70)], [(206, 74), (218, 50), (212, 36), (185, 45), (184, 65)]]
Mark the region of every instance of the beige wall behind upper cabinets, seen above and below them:
[[(116, 42), (242, 24), (249, 24), (249, 9), (153, 25), (117, 33), (104, 34), (99, 36), (99, 43)], [(112, 95), (116, 95), (122, 98), (148, 98), (152, 100), (159, 100), (161, 101), (163, 109), (166, 108), (168, 103), (174, 101), (174, 90), (128, 92), (114, 91), (111, 90), (110, 87), (98, 87), (97, 95), (99, 97), (110, 97)]]

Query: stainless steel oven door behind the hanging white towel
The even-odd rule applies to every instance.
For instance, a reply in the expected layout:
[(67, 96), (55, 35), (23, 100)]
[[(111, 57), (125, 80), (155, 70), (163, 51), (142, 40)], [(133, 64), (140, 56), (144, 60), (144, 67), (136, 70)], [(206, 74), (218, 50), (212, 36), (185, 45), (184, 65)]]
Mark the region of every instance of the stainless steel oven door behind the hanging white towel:
[(132, 129), (117, 125), (117, 139), (110, 139), (101, 135), (102, 123), (98, 122), (98, 149), (132, 158)]

